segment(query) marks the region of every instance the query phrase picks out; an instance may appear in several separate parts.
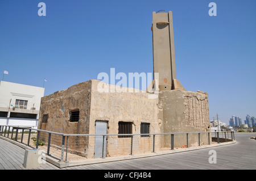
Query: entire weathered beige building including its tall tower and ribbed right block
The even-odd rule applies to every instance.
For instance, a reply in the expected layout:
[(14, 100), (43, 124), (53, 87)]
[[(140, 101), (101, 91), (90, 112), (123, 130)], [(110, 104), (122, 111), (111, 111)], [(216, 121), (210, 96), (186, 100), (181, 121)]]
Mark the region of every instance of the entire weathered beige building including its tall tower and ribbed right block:
[[(111, 91), (120, 88), (90, 80), (44, 96), (41, 100), (39, 129), (70, 134), (147, 134), (210, 131), (208, 94), (186, 91), (176, 79), (172, 13), (153, 12), (152, 22), (154, 77), (152, 87), (144, 91)], [(159, 85), (158, 85), (159, 83)], [(129, 89), (129, 88), (127, 88)], [(157, 94), (155, 94), (157, 93)], [(158, 95), (151, 99), (152, 94)], [(41, 137), (43, 139), (43, 137)], [(102, 138), (100, 138), (102, 141)], [(184, 136), (175, 136), (175, 147), (185, 145)], [(106, 156), (127, 154), (131, 137), (110, 136), (105, 140)], [(102, 155), (97, 137), (75, 137), (69, 148), (87, 158)], [(156, 149), (170, 148), (170, 137), (156, 137)], [(189, 136), (189, 146), (199, 144), (198, 136)], [(54, 144), (54, 141), (53, 141)], [(208, 134), (200, 145), (208, 144)], [(150, 136), (133, 140), (133, 153), (145, 153), (152, 147)], [(100, 149), (98, 149), (100, 148)], [(120, 151), (122, 150), (122, 151)]]

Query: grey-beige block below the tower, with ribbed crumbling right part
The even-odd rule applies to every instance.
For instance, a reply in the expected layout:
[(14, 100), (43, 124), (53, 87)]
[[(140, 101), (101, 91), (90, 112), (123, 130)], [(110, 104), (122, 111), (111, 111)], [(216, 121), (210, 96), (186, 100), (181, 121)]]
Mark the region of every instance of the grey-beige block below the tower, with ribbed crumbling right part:
[[(163, 121), (163, 133), (210, 131), (207, 92), (160, 91), (159, 119)], [(208, 144), (208, 134), (200, 134), (200, 145)], [(187, 145), (186, 134), (174, 136), (174, 146)], [(198, 133), (189, 134), (189, 146), (199, 145)], [(164, 138), (164, 147), (171, 146), (171, 139)]]

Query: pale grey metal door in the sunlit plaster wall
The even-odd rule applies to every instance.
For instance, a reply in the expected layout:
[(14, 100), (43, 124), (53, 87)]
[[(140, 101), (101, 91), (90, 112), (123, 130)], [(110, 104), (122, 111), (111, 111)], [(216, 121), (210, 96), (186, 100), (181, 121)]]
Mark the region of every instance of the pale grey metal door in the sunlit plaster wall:
[[(96, 121), (95, 134), (106, 134), (108, 121)], [(106, 157), (106, 136), (95, 136), (94, 158)]]

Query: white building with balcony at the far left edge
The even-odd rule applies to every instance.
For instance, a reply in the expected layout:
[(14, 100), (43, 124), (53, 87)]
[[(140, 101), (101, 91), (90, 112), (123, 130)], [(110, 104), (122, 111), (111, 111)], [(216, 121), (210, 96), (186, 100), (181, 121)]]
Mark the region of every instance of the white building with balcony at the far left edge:
[(0, 125), (38, 128), (43, 87), (0, 82)]

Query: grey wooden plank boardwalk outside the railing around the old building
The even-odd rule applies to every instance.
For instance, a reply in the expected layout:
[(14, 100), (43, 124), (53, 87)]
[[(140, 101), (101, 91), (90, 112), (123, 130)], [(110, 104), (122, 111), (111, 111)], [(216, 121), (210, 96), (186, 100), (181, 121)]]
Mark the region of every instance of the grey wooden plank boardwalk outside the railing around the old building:
[[(148, 158), (66, 167), (61, 170), (226, 170), (256, 169), (256, 133), (235, 133), (236, 144), (159, 155)], [(209, 150), (216, 151), (217, 163), (209, 163)], [(0, 170), (23, 170), (24, 149), (0, 137)], [(60, 170), (44, 163), (38, 170)], [(25, 169), (26, 170), (26, 169)]]

